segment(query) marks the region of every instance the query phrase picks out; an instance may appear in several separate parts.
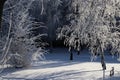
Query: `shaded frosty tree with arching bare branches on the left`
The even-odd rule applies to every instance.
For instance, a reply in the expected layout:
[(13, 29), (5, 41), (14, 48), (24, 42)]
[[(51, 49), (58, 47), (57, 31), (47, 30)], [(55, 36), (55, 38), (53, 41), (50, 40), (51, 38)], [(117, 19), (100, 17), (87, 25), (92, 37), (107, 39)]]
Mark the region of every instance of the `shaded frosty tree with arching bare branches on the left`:
[(5, 46), (2, 50), (1, 64), (8, 62), (15, 67), (27, 67), (32, 60), (40, 59), (43, 56), (42, 46), (37, 49), (34, 42), (36, 38), (40, 38), (43, 34), (36, 36), (31, 34), (32, 29), (34, 29), (33, 25), (41, 27), (41, 23), (32, 21), (29, 15), (29, 9), (33, 2), (34, 0), (8, 0), (6, 2), (3, 19), (8, 23), (9, 30), (4, 40)]

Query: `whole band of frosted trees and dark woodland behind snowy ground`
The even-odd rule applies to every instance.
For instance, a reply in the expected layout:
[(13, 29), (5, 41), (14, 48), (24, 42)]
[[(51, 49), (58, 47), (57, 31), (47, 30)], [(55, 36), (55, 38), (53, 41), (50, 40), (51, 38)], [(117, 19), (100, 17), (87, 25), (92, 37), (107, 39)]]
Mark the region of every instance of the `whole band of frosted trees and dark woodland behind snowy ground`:
[(26, 66), (56, 40), (69, 48), (70, 60), (84, 45), (92, 61), (101, 57), (103, 70), (106, 50), (120, 58), (119, 0), (7, 0), (1, 26), (2, 64)]

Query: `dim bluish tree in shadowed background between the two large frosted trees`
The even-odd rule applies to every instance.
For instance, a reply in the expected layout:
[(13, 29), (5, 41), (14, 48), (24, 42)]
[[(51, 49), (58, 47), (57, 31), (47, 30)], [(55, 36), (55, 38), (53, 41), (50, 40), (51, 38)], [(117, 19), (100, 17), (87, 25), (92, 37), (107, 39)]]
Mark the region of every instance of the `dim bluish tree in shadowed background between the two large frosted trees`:
[(61, 0), (49, 0), (47, 2), (46, 7), (46, 16), (47, 16), (47, 22), (46, 26), (48, 28), (48, 38), (49, 38), (49, 44), (52, 48), (52, 42), (56, 38), (56, 29), (60, 25), (60, 6), (61, 6)]

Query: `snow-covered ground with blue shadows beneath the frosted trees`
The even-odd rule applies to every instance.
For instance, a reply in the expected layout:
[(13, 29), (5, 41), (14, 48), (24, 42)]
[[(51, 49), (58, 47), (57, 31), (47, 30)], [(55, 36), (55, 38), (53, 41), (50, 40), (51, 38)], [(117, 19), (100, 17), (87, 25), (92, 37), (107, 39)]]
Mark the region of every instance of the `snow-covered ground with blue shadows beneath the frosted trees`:
[[(79, 56), (74, 53), (73, 61), (69, 61), (67, 49), (54, 49), (52, 54), (45, 57), (44, 61), (34, 63), (28, 69), (8, 68), (0, 76), (6, 80), (103, 80), (99, 57), (91, 62), (87, 51)], [(105, 80), (120, 80), (120, 63), (107, 55), (106, 64)], [(110, 78), (111, 67), (115, 68), (115, 75)]]

